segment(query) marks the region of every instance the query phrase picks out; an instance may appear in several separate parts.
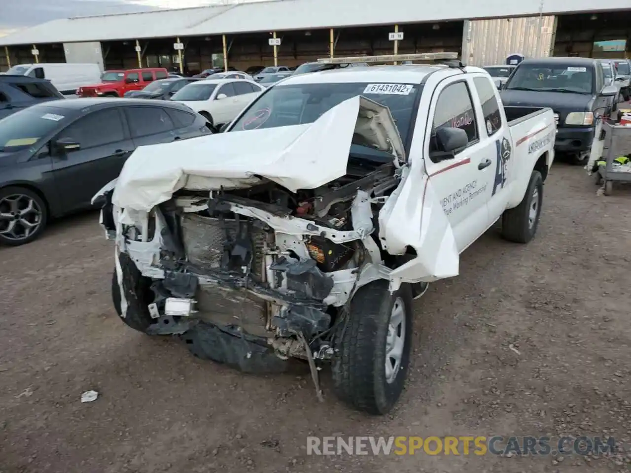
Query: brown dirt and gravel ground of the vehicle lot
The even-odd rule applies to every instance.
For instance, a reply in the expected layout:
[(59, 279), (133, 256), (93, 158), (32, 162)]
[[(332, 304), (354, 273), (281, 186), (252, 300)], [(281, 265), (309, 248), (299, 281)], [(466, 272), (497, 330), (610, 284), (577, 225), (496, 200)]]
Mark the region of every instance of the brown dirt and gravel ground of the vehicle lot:
[(545, 194), (536, 240), (488, 231), (418, 301), (411, 379), (385, 418), (340, 406), (326, 377), (318, 404), (307, 375), (244, 376), (128, 329), (95, 213), (0, 248), (0, 472), (628, 471), (627, 453), (306, 455), (307, 435), (631, 440), (631, 189), (598, 197), (557, 163)]

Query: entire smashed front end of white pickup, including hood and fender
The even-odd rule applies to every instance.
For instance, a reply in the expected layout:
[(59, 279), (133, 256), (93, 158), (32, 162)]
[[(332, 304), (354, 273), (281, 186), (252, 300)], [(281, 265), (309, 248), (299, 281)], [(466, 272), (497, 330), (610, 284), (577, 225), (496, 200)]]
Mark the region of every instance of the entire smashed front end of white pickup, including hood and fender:
[[(223, 154), (206, 157), (213, 146)], [(117, 311), (243, 371), (306, 359), (317, 385), (359, 289), (387, 281), (391, 294), (403, 283), (414, 293), (457, 274), (432, 192), (389, 110), (360, 96), (313, 124), (138, 148), (97, 194), (116, 243)]]

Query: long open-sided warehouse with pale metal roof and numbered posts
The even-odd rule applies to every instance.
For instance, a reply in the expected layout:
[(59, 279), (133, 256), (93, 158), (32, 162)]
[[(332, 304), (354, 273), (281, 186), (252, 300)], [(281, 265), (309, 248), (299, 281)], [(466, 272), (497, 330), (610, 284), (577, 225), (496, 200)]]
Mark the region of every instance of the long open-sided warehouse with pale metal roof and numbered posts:
[[(105, 69), (295, 66), (327, 56), (458, 52), (629, 55), (628, 0), (275, 0), (54, 20), (0, 38), (0, 70), (32, 62)], [(401, 39), (402, 38), (402, 39)]]

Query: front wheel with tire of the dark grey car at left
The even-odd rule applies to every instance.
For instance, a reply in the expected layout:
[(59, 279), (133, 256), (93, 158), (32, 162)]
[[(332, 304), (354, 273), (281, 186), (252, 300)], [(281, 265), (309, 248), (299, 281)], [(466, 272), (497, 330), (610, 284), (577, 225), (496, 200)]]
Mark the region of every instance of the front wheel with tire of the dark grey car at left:
[(30, 243), (42, 235), (47, 221), (46, 202), (37, 193), (26, 187), (0, 189), (0, 244)]

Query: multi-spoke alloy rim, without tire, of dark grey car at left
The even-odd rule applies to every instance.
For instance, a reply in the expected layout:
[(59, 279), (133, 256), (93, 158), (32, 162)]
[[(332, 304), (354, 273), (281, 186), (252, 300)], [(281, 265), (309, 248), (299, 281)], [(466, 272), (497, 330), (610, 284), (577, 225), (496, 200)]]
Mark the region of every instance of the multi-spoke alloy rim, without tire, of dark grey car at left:
[(0, 200), (0, 235), (19, 242), (37, 231), (42, 224), (42, 209), (24, 194), (11, 194)]

